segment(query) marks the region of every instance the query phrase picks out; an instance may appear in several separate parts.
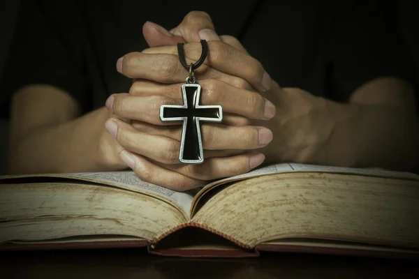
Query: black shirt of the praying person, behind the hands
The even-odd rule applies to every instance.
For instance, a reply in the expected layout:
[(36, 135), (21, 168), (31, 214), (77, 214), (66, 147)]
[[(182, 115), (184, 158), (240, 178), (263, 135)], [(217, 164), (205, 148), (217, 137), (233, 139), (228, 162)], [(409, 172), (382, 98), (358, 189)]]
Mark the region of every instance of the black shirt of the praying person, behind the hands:
[(369, 80), (402, 77), (394, 1), (22, 1), (1, 99), (26, 84), (52, 84), (84, 112), (127, 92), (116, 61), (147, 48), (142, 24), (171, 29), (204, 10), (219, 35), (240, 39), (280, 86), (345, 102)]

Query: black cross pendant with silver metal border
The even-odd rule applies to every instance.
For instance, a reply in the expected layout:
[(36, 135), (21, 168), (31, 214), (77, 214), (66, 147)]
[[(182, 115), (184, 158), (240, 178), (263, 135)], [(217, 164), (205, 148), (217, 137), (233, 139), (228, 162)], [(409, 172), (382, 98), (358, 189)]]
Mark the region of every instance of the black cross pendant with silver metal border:
[(182, 163), (203, 163), (200, 121), (221, 122), (221, 105), (199, 105), (199, 84), (182, 84), (183, 105), (162, 105), (161, 121), (183, 121), (179, 160)]

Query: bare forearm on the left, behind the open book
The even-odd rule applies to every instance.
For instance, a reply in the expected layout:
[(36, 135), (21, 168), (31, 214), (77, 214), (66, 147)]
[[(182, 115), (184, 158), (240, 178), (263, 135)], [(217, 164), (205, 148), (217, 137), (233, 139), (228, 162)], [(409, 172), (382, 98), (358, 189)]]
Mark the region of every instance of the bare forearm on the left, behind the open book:
[[(104, 160), (105, 107), (71, 121), (28, 133), (10, 150), (9, 172), (95, 172), (112, 169)], [(109, 136), (109, 139), (104, 138)], [(109, 152), (112, 150), (110, 149)], [(112, 156), (113, 154), (108, 154)]]

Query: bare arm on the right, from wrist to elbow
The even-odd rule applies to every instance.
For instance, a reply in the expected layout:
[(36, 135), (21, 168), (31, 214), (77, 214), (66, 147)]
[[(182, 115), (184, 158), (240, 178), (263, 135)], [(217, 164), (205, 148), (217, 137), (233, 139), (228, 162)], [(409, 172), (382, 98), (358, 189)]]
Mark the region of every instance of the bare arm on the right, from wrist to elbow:
[(358, 89), (349, 103), (294, 88), (264, 93), (277, 115), (258, 122), (274, 133), (262, 151), (265, 164), (310, 163), (418, 171), (419, 119), (409, 86), (377, 80)]

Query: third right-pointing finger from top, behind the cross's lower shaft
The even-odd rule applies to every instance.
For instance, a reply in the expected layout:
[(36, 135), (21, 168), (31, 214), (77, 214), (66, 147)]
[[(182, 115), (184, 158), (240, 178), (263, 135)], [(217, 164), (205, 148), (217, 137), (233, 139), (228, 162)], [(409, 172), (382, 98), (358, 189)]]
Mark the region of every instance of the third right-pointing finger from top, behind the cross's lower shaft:
[[(178, 142), (180, 142), (182, 137), (182, 126), (162, 127), (136, 121), (133, 127), (142, 133), (168, 137)], [(264, 127), (236, 127), (218, 123), (201, 124), (200, 133), (203, 148), (207, 150), (258, 149), (269, 144), (273, 137), (272, 131)]]

